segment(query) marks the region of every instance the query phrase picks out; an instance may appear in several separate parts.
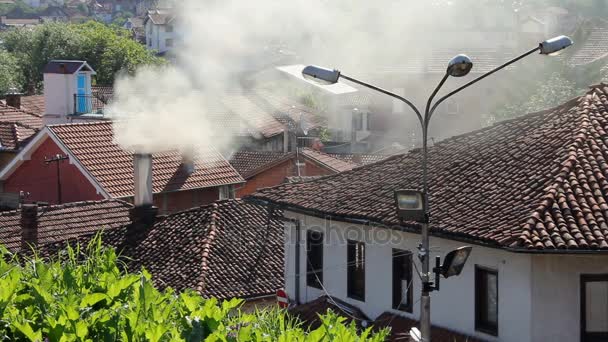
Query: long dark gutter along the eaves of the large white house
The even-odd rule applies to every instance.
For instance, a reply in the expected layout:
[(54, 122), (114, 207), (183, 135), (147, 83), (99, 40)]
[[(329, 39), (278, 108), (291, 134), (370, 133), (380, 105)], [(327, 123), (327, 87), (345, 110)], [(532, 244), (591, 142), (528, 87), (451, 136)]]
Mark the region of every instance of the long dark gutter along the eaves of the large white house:
[[(313, 217), (317, 217), (317, 218), (321, 218), (321, 219), (329, 218), (334, 221), (345, 222), (345, 223), (354, 223), (354, 224), (367, 225), (367, 226), (387, 227), (387, 225), (385, 223), (382, 223), (379, 221), (363, 219), (363, 218), (358, 219), (358, 218), (353, 218), (353, 217), (344, 216), (344, 215), (328, 214), (328, 213), (325, 213), (320, 210), (307, 209), (307, 208), (304, 208), (301, 206), (286, 205), (286, 204), (276, 203), (276, 202), (272, 202), (272, 201), (268, 201), (268, 200), (263, 200), (260, 198), (250, 197), (250, 196), (243, 198), (243, 200), (245, 200), (247, 202), (251, 202), (251, 203), (260, 204), (260, 205), (266, 205), (266, 206), (274, 205), (274, 206), (278, 206), (279, 208), (281, 208), (283, 210), (288, 210), (288, 211), (292, 211), (292, 212), (295, 212), (298, 214), (313, 216)], [(392, 227), (387, 227), (387, 229), (394, 229), (394, 230), (398, 230), (398, 231), (406, 232), (406, 233), (420, 234), (420, 231), (418, 229), (413, 228), (411, 226), (394, 225)], [(481, 247), (486, 247), (486, 248), (500, 249), (500, 250), (504, 250), (504, 251), (508, 251), (508, 252), (512, 252), (512, 253), (559, 254), (559, 255), (608, 255), (608, 249), (596, 249), (596, 250), (593, 250), (593, 249), (591, 249), (591, 250), (589, 250), (589, 249), (586, 249), (586, 250), (583, 250), (583, 249), (528, 249), (528, 248), (521, 248), (521, 247), (501, 246), (496, 243), (483, 242), (483, 241), (479, 241), (479, 240), (476, 240), (476, 239), (473, 239), (473, 238), (470, 238), (467, 236), (458, 236), (458, 235), (451, 234), (451, 233), (437, 231), (432, 228), (430, 229), (429, 233), (433, 237), (443, 238), (443, 239), (452, 240), (452, 241), (465, 242), (465, 243), (469, 243), (469, 244), (473, 244), (473, 245), (481, 246)]]

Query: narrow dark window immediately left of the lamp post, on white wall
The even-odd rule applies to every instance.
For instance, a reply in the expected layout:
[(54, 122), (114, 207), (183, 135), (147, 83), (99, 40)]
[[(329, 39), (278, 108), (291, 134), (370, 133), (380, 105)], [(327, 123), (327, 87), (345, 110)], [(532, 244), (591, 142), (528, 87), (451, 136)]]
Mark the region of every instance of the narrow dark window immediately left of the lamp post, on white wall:
[(393, 249), (393, 309), (412, 312), (412, 253)]

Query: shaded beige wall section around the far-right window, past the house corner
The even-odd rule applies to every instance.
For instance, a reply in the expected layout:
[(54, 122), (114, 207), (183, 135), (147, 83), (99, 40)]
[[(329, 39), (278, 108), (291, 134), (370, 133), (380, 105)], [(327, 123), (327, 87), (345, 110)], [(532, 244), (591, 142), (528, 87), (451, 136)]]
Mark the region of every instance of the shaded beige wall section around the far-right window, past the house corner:
[(580, 276), (608, 273), (608, 256), (535, 255), (532, 257), (534, 341), (578, 341)]

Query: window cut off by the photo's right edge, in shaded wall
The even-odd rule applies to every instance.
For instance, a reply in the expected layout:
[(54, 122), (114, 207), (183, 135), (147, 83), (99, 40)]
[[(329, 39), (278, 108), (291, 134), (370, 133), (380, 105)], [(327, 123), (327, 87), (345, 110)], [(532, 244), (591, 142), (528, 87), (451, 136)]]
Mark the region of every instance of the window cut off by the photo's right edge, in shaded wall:
[(608, 274), (581, 275), (581, 341), (608, 340)]

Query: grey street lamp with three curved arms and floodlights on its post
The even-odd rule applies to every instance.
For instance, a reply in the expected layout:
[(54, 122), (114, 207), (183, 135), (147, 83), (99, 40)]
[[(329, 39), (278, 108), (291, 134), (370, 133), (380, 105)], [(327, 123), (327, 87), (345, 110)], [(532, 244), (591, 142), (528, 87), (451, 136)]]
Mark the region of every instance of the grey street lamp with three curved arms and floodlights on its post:
[[(422, 192), (414, 191), (414, 193), (417, 194), (415, 196), (412, 196), (412, 190), (398, 190), (395, 193), (395, 197), (396, 197), (396, 203), (397, 203), (397, 210), (398, 210), (400, 218), (405, 221), (419, 222), (421, 225), (422, 243), (419, 247), (419, 257), (422, 262), (422, 294), (421, 294), (421, 299), (420, 299), (420, 330), (422, 332), (423, 341), (430, 341), (430, 336), (431, 336), (430, 292), (433, 290), (437, 290), (438, 285), (439, 285), (439, 284), (433, 284), (433, 282), (429, 281), (430, 272), (429, 272), (429, 257), (428, 257), (428, 254), (429, 254), (428, 223), (429, 223), (429, 217), (430, 217), (430, 209), (429, 209), (429, 195), (428, 195), (427, 140), (428, 140), (429, 122), (431, 120), (431, 117), (433, 116), (433, 113), (435, 112), (435, 109), (437, 108), (437, 106), (439, 104), (441, 104), (443, 101), (445, 101), (447, 98), (449, 98), (450, 96), (460, 92), (461, 90), (481, 81), (482, 79), (492, 75), (493, 73), (497, 72), (498, 70), (504, 69), (507, 66), (509, 66), (509, 65), (519, 61), (520, 59), (522, 59), (526, 56), (529, 56), (537, 51), (539, 51), (543, 55), (555, 55), (570, 45), (572, 45), (572, 40), (566, 36), (559, 36), (559, 37), (555, 37), (555, 38), (546, 40), (546, 41), (540, 43), (538, 45), (538, 47), (475, 78), (474, 80), (464, 84), (463, 86), (460, 86), (459, 88), (452, 90), (451, 92), (444, 95), (443, 97), (441, 97), (439, 100), (437, 100), (433, 104), (433, 99), (435, 98), (435, 95), (437, 95), (437, 92), (439, 92), (439, 90), (441, 89), (441, 87), (443, 86), (443, 84), (445, 83), (445, 81), (447, 80), (447, 78), (449, 76), (453, 76), (453, 77), (466, 76), (469, 73), (469, 71), (471, 71), (471, 69), (473, 68), (473, 62), (471, 61), (471, 59), (469, 57), (467, 57), (466, 55), (458, 55), (458, 56), (452, 58), (452, 60), (450, 60), (450, 62), (448, 63), (448, 67), (446, 69), (445, 75), (443, 76), (443, 78), (441, 79), (441, 81), (439, 82), (439, 84), (437, 85), (437, 87), (435, 88), (435, 90), (433, 91), (431, 96), (429, 97), (429, 99), (426, 103), (424, 116), (420, 113), (418, 108), (416, 108), (416, 106), (414, 106), (412, 104), (412, 102), (410, 102), (406, 98), (399, 96), (395, 93), (392, 93), (388, 90), (359, 81), (350, 76), (346, 76), (338, 70), (326, 69), (326, 68), (312, 66), (312, 65), (307, 66), (302, 70), (302, 75), (304, 76), (304, 78), (313, 80), (317, 83), (329, 85), (329, 84), (337, 83), (340, 78), (344, 78), (353, 83), (362, 85), (366, 88), (369, 88), (369, 89), (378, 91), (380, 93), (386, 94), (388, 96), (391, 96), (393, 98), (396, 98), (396, 99), (402, 101), (403, 103), (407, 104), (414, 111), (414, 113), (416, 113), (416, 116), (418, 117), (418, 120), (420, 121), (420, 126), (422, 128), (422, 188), (423, 189), (422, 189)], [(403, 196), (408, 196), (408, 198), (405, 198)], [(413, 203), (412, 203), (412, 200), (414, 201)], [(406, 207), (401, 207), (402, 204), (405, 204)], [(417, 208), (418, 210), (417, 211), (411, 210), (413, 208)], [(408, 213), (412, 213), (413, 215), (408, 216), (409, 215)], [(461, 264), (462, 264), (462, 265), (460, 265), (460, 269), (457, 269), (458, 272), (455, 272), (455, 273), (453, 272), (451, 274), (448, 274), (447, 271), (446, 272), (442, 271), (444, 268), (435, 267), (434, 271), (435, 271), (435, 274), (437, 275), (436, 282), (439, 279), (438, 274), (443, 274), (444, 277), (459, 274), (460, 270), (462, 269), (462, 266), (464, 265), (464, 262), (466, 261), (466, 257), (468, 257), (469, 252), (470, 252), (470, 248), (462, 250), (457, 254), (459, 256), (459, 260), (461, 261)], [(447, 259), (448, 258), (446, 256), (446, 258), (445, 258), (446, 262), (448, 261)], [(454, 261), (454, 258), (452, 258), (451, 261)], [(444, 264), (445, 264), (445, 262), (444, 262)], [(440, 266), (439, 263), (437, 265)]]

